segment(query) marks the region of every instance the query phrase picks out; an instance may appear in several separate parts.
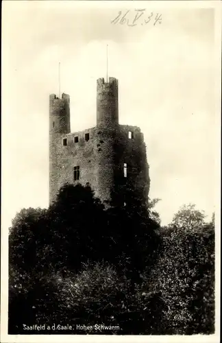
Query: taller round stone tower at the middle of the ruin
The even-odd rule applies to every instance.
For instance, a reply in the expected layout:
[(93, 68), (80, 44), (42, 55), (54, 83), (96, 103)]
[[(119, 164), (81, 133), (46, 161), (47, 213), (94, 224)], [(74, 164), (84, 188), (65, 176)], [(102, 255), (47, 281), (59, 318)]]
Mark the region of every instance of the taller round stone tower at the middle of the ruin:
[(115, 141), (119, 131), (118, 80), (97, 80), (97, 189), (102, 200), (111, 200), (114, 189)]

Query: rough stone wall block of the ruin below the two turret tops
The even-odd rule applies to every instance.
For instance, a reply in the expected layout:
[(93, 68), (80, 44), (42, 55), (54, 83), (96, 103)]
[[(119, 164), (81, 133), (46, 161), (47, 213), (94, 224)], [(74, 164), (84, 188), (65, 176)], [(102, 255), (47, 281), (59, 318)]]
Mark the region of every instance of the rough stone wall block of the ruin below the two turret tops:
[[(134, 137), (128, 138), (128, 132)], [(85, 140), (85, 134), (90, 138)], [(79, 142), (75, 143), (75, 137)], [(67, 139), (67, 145), (62, 140)], [(57, 134), (54, 139), (56, 164), (53, 170), (53, 196), (64, 183), (81, 183), (90, 186), (95, 196), (101, 200), (110, 200), (112, 189), (124, 191), (132, 182), (143, 191), (147, 198), (149, 193), (149, 166), (143, 134), (135, 126), (118, 126), (116, 130), (101, 130), (97, 127), (69, 134)], [(110, 154), (112, 147), (114, 154)], [(124, 163), (127, 163), (127, 178), (124, 178)], [(74, 181), (73, 168), (79, 166), (80, 178)], [(121, 193), (121, 192), (120, 192)], [(119, 195), (121, 199), (121, 194)]]

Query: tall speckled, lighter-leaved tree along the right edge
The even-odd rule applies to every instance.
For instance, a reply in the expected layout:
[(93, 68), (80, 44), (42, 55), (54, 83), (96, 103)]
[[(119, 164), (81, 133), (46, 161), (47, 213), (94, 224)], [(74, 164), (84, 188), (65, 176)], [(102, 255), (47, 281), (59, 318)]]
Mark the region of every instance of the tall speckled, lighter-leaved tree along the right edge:
[(177, 226), (174, 221), (160, 230), (162, 253), (144, 281), (147, 292), (161, 293), (163, 334), (214, 332), (214, 226), (203, 223), (201, 211), (191, 210), (182, 220), (175, 216)]

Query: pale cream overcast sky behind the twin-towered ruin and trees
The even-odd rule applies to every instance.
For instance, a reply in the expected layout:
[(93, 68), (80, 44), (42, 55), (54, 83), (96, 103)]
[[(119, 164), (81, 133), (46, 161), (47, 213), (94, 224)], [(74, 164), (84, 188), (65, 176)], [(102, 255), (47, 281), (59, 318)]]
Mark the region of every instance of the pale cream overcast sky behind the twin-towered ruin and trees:
[[(112, 2), (112, 1), (111, 1)], [(131, 5), (3, 3), (3, 224), (49, 202), (49, 94), (71, 96), (71, 130), (96, 124), (96, 80), (119, 79), (119, 121), (140, 126), (151, 198), (162, 224), (193, 202), (212, 215), (215, 192), (214, 10), (155, 8), (145, 25), (113, 25)], [(161, 14), (161, 23), (155, 23)], [(158, 15), (158, 16), (157, 16)], [(141, 25), (143, 23), (143, 25)]]

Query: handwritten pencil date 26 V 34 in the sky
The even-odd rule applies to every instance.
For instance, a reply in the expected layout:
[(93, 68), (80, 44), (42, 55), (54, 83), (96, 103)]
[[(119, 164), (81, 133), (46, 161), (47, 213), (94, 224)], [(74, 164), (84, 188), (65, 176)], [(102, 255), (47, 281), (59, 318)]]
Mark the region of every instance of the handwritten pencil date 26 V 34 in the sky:
[(153, 21), (153, 25), (156, 25), (157, 23), (162, 23), (162, 14), (156, 13), (156, 15), (153, 14), (153, 12), (149, 13), (149, 15), (145, 14), (145, 9), (138, 9), (134, 10), (134, 13), (132, 14), (132, 11), (127, 10), (127, 12), (122, 13), (122, 11), (119, 11), (118, 16), (116, 16), (115, 19), (111, 21), (112, 24), (120, 24), (120, 25), (127, 25), (127, 26), (136, 26), (136, 25), (143, 25), (148, 24), (151, 20)]

